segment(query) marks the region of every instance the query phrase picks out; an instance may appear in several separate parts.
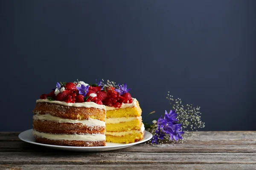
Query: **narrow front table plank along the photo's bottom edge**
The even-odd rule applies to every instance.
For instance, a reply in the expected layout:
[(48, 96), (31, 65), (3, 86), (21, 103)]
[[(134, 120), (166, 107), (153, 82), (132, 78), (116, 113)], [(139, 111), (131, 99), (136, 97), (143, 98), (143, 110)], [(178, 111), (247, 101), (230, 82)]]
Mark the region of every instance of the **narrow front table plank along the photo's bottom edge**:
[(0, 165), (1, 170), (35, 170), (35, 169), (44, 169), (44, 170), (127, 170), (127, 169), (136, 169), (136, 170), (147, 170), (147, 169), (175, 169), (175, 170), (223, 170), (223, 169), (232, 169), (232, 170), (241, 170), (241, 169), (255, 169), (255, 164), (105, 164), (105, 165)]

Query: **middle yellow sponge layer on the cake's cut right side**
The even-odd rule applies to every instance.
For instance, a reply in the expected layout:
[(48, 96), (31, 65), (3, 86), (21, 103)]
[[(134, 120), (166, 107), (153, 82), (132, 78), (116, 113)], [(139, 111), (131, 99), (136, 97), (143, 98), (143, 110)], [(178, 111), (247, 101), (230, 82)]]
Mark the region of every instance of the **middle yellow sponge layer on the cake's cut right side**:
[(108, 132), (140, 130), (141, 125), (142, 125), (141, 119), (134, 119), (134, 120), (129, 121), (129, 122), (106, 124), (106, 130)]

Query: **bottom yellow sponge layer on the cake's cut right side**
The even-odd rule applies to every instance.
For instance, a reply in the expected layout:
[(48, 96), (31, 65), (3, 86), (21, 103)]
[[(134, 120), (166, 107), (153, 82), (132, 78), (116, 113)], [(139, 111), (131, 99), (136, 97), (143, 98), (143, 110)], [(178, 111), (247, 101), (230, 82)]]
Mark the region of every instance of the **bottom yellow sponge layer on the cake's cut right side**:
[(132, 133), (124, 136), (106, 135), (106, 142), (133, 143), (143, 139), (143, 133)]

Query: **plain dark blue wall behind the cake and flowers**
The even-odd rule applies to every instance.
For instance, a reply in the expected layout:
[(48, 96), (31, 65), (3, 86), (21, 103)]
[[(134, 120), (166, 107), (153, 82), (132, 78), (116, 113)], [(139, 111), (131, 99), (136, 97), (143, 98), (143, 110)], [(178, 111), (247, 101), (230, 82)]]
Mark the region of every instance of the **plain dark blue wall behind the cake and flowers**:
[(126, 82), (143, 117), (170, 109), (170, 91), (201, 106), (203, 130), (256, 130), (255, 0), (6, 0), (1, 9), (2, 131), (32, 128), (35, 100), (57, 81), (102, 78)]

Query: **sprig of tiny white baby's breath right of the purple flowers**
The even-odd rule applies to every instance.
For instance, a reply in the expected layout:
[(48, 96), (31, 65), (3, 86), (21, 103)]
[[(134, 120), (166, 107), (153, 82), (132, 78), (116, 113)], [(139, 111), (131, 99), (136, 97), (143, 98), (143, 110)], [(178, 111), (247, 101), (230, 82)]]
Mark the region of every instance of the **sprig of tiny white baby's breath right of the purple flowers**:
[(171, 108), (178, 114), (178, 122), (181, 123), (181, 127), (184, 131), (197, 131), (203, 128), (204, 122), (201, 121), (201, 111), (199, 106), (183, 105), (180, 98), (174, 99), (168, 91), (167, 97)]

